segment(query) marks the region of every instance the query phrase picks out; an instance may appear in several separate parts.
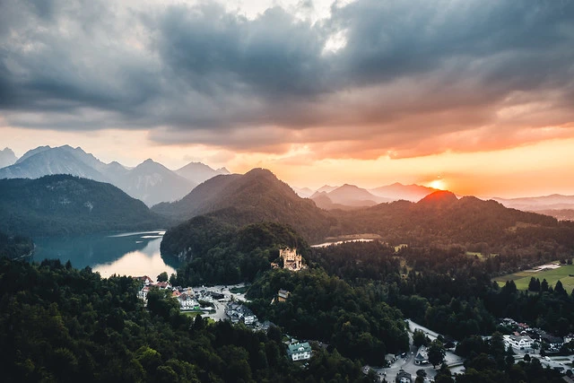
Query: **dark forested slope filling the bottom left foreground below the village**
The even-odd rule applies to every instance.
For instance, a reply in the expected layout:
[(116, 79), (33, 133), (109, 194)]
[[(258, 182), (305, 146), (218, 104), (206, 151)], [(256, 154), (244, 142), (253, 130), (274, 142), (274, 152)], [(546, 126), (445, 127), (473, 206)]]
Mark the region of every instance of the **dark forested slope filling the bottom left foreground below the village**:
[(0, 259), (0, 368), (8, 381), (367, 381), (361, 365), (314, 351), (306, 369), (285, 356), (282, 333), (179, 313), (161, 292), (149, 311), (129, 277), (86, 267)]

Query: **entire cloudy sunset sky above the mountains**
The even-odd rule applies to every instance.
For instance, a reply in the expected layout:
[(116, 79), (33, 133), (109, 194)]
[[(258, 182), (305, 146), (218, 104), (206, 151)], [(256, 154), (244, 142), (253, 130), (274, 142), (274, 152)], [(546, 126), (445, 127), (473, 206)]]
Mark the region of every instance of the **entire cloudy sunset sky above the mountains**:
[(571, 0), (0, 1), (0, 146), (574, 195)]

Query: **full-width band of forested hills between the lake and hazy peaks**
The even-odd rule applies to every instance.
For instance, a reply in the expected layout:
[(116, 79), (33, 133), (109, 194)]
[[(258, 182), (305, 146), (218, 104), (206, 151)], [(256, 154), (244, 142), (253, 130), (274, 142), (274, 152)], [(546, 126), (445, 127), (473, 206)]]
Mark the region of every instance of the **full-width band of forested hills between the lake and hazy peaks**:
[[(16, 165), (42, 153), (53, 155), (49, 152), (37, 152)], [(104, 165), (128, 171), (119, 164)], [(152, 170), (147, 170), (148, 167)], [(140, 165), (143, 173), (161, 168), (153, 161)], [(137, 167), (130, 171), (135, 170)], [(341, 198), (349, 194), (371, 196), (368, 191), (350, 185), (323, 193), (325, 196), (334, 193), (331, 196)], [(176, 226), (170, 229), (178, 231), (177, 237), (183, 238), (186, 231), (191, 230), (189, 225), (193, 226), (188, 220), (202, 215), (234, 227), (258, 222), (287, 224), (309, 242), (374, 233), (389, 242), (443, 246), (457, 243), (474, 247), (488, 244), (491, 248), (528, 247), (535, 243), (533, 241), (574, 246), (572, 222), (522, 212), (494, 200), (483, 201), (474, 196), (458, 198), (448, 191), (433, 192), (416, 203), (400, 200), (349, 211), (326, 211), (309, 198), (297, 196), (291, 187), (264, 169), (209, 178), (180, 200), (154, 205), (152, 209), (117, 187), (86, 178), (53, 175), (0, 179), (0, 231), (6, 233), (48, 235), (134, 230), (187, 222), (183, 229)]]

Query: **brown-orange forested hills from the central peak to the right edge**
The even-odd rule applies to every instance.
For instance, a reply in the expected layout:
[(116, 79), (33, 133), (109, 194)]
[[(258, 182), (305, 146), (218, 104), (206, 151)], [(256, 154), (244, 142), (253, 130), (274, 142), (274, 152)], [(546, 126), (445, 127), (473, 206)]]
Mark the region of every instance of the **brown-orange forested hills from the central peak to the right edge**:
[[(357, 191), (349, 186), (344, 186), (345, 190)], [(178, 243), (187, 243), (179, 239), (203, 232), (195, 226), (203, 222), (196, 218), (204, 215), (237, 227), (257, 222), (288, 224), (310, 242), (327, 236), (373, 233), (391, 243), (464, 244), (497, 251), (505, 246), (535, 246), (547, 240), (564, 247), (574, 245), (574, 225), (570, 222), (507, 208), (493, 200), (458, 198), (441, 190), (416, 203), (399, 200), (327, 212), (262, 169), (208, 179), (177, 202), (153, 206), (152, 212), (183, 222), (166, 234), (167, 239), (178, 239)], [(171, 231), (177, 234), (172, 236)], [(186, 251), (175, 242), (166, 243), (164, 248), (175, 254)]]

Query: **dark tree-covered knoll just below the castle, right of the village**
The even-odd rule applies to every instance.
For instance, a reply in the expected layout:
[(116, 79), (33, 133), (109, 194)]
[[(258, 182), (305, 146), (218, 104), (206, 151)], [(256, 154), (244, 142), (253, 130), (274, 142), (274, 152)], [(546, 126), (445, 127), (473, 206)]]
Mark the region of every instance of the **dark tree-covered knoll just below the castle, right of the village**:
[[(284, 302), (277, 292), (291, 292)], [(248, 291), (249, 306), (260, 318), (290, 335), (325, 342), (344, 356), (383, 365), (385, 353), (408, 350), (402, 314), (387, 305), (375, 286), (351, 287), (318, 268), (298, 273), (276, 269)]]

